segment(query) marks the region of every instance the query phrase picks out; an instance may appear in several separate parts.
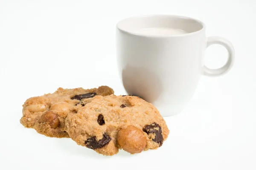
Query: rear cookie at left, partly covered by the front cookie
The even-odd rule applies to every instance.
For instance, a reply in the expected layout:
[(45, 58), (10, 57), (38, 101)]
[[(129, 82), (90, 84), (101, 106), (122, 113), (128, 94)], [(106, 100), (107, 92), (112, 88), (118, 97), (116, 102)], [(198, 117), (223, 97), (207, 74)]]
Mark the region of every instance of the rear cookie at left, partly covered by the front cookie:
[(25, 127), (34, 128), (45, 136), (69, 137), (64, 130), (66, 117), (82, 108), (85, 103), (84, 99), (113, 93), (113, 89), (108, 86), (87, 90), (58, 88), (53, 94), (27, 99), (23, 105), (23, 117), (20, 119), (20, 123)]

